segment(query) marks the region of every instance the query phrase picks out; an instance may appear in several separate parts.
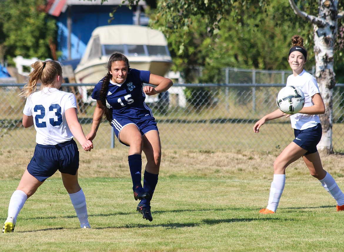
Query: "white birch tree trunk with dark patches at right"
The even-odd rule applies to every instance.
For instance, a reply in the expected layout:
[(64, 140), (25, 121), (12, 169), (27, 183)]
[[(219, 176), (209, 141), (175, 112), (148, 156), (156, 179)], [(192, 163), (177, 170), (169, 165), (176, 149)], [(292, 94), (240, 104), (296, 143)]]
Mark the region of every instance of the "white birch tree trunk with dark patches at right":
[(327, 154), (333, 153), (332, 146), (332, 124), (333, 104), (332, 95), (335, 86), (334, 64), (334, 42), (337, 38), (338, 1), (319, 0), (318, 17), (308, 15), (300, 11), (294, 0), (289, 0), (290, 6), (299, 17), (309, 20), (313, 24), (314, 32), (314, 54), (315, 54), (315, 77), (317, 79), (320, 94), (325, 104), (325, 114), (320, 115), (323, 135), (318, 144), (319, 151)]

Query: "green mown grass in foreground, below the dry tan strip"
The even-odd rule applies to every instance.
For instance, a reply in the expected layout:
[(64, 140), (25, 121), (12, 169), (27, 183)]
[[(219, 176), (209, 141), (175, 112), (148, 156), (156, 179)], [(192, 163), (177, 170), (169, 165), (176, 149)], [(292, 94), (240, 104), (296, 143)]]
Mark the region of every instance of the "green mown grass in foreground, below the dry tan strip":
[[(92, 229), (79, 222), (62, 181), (47, 180), (26, 201), (14, 233), (0, 237), (2, 251), (342, 251), (344, 212), (310, 176), (288, 178), (276, 214), (267, 204), (270, 179), (245, 172), (228, 179), (161, 176), (143, 220), (130, 179), (80, 179)], [(264, 174), (265, 172), (262, 171)], [(300, 181), (302, 180), (302, 181)], [(0, 217), (19, 180), (0, 181)], [(343, 181), (341, 181), (343, 182)], [(168, 195), (168, 197), (167, 197)]]

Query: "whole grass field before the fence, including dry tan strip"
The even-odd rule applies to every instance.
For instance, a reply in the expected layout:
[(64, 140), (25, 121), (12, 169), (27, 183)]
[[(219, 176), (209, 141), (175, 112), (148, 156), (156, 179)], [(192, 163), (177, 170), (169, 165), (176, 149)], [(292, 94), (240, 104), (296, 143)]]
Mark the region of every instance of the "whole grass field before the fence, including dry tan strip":
[[(0, 219), (33, 149), (0, 151)], [(152, 200), (153, 221), (136, 212), (127, 149), (80, 151), (79, 182), (92, 229), (79, 228), (60, 174), (48, 179), (19, 214), (2, 251), (343, 251), (344, 212), (302, 161), (287, 169), (276, 214), (266, 207), (272, 164), (266, 152), (166, 150)], [(143, 158), (144, 161), (144, 158)], [(322, 157), (344, 189), (340, 155)]]

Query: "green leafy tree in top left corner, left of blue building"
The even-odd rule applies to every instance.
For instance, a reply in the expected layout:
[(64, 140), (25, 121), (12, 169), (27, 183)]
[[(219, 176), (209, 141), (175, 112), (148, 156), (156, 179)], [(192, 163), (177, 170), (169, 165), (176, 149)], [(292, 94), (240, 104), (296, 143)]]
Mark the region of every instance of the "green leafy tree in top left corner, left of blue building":
[(45, 12), (45, 4), (45, 0), (0, 2), (0, 62), (17, 55), (56, 57), (56, 21)]

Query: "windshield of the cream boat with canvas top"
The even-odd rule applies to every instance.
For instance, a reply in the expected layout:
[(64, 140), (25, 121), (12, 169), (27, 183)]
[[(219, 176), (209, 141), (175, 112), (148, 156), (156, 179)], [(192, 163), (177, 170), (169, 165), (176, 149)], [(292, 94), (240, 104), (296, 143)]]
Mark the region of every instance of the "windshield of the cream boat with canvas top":
[(128, 56), (170, 56), (165, 45), (102, 45), (103, 55), (120, 52)]

